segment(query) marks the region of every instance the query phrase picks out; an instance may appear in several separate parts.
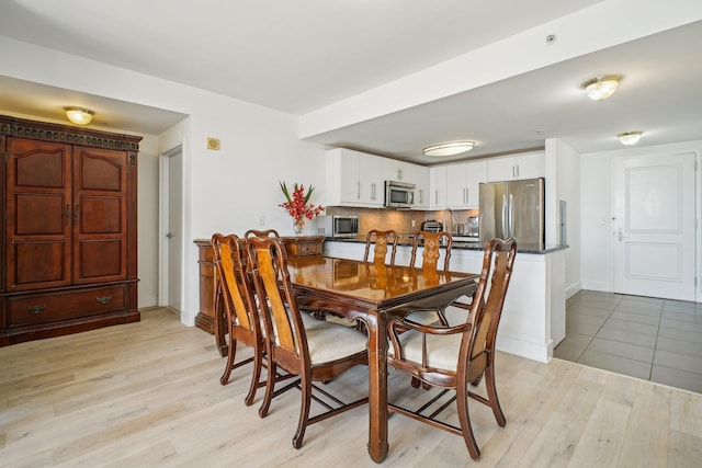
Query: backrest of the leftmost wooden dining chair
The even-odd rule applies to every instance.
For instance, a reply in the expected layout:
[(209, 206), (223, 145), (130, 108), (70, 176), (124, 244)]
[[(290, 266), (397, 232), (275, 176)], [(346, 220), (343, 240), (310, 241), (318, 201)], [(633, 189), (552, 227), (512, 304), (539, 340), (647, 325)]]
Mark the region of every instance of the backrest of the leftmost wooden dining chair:
[(235, 327), (258, 335), (259, 315), (247, 272), (242, 240), (237, 235), (215, 233), (212, 236), (212, 250), (227, 319)]

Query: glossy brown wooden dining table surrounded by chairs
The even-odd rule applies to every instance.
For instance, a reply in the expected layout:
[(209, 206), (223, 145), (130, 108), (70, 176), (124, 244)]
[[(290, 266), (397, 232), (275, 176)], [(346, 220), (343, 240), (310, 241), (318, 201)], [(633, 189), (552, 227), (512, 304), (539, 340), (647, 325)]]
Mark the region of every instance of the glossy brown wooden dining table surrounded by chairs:
[(365, 323), (369, 336), (369, 454), (381, 463), (387, 443), (387, 320), (443, 308), (475, 292), (477, 274), (423, 271), (331, 256), (288, 259), (301, 304), (333, 309)]

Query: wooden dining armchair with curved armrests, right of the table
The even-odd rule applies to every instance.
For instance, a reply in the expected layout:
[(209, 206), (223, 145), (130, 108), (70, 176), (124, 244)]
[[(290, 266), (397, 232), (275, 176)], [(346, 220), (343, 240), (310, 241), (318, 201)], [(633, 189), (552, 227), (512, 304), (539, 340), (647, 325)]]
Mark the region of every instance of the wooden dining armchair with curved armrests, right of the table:
[[(462, 435), (471, 457), (476, 460), (480, 449), (471, 425), (468, 397), (490, 407), (500, 427), (507, 423), (495, 386), (495, 342), (516, 253), (514, 239), (492, 239), (487, 243), (477, 289), (464, 323), (431, 327), (401, 318), (388, 321), (388, 365), (430, 386), (441, 387), (432, 402), (438, 402), (450, 389), (455, 390), (460, 426), (437, 418), (448, 403), (432, 414), (423, 407), (410, 410), (389, 402), (388, 411)], [(468, 389), (468, 384), (475, 387), (483, 377), (487, 397)]]

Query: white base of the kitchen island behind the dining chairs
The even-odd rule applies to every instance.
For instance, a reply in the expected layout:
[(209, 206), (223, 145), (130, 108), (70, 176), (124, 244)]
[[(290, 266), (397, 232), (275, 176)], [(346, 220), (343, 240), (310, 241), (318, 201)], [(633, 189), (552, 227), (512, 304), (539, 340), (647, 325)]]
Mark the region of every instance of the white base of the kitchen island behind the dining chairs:
[[(454, 241), (451, 270), (479, 273), (485, 243)], [(365, 237), (326, 238), (324, 253), (362, 260)], [(497, 349), (547, 363), (565, 338), (565, 250), (567, 246), (517, 246), (512, 279), (507, 292)], [(396, 263), (409, 264), (411, 237), (400, 236)]]

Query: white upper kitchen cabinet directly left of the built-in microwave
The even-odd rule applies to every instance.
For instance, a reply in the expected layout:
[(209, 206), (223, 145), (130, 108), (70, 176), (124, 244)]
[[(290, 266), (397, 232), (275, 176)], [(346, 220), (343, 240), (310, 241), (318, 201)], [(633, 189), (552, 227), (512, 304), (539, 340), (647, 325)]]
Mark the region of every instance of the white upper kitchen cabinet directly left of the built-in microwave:
[(336, 148), (326, 159), (327, 206), (383, 206), (386, 158)]

